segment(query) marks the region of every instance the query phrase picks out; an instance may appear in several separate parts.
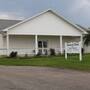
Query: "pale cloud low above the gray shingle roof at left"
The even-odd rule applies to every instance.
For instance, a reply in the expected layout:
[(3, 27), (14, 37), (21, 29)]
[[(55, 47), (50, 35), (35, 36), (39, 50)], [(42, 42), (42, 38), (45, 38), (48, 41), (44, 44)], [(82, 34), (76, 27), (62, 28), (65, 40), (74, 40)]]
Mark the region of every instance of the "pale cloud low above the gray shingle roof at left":
[(25, 17), (15, 12), (0, 12), (0, 19), (22, 20)]

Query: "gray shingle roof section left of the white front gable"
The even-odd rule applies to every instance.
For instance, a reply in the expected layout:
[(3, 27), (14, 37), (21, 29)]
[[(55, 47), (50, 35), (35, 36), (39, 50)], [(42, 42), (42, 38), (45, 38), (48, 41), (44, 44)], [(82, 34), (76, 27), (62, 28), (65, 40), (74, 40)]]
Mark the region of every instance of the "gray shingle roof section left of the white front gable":
[(8, 28), (14, 24), (19, 23), (21, 20), (6, 20), (6, 19), (0, 19), (0, 31)]

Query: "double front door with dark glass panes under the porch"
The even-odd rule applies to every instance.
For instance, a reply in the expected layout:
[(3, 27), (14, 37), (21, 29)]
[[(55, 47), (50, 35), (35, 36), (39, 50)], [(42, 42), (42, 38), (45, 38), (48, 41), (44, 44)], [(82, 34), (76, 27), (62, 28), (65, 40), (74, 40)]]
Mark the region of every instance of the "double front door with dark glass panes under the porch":
[(47, 55), (48, 43), (47, 41), (38, 41), (39, 54)]

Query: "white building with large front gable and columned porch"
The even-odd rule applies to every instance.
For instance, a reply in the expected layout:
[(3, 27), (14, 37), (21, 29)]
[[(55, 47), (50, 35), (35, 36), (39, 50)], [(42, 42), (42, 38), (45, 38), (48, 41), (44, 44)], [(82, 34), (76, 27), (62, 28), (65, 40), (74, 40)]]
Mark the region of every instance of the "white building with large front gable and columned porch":
[(0, 30), (0, 55), (44, 54), (50, 48), (63, 53), (65, 42), (82, 42), (87, 32), (53, 10), (46, 10)]

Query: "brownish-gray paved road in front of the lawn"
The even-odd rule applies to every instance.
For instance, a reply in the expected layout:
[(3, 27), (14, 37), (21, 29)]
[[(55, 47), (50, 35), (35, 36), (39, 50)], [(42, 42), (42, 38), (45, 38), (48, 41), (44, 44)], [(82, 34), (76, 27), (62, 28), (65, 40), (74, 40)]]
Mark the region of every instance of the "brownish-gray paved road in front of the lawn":
[(90, 73), (0, 66), (0, 90), (90, 90)]

